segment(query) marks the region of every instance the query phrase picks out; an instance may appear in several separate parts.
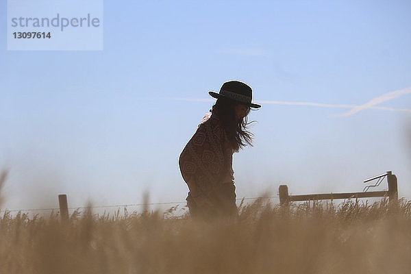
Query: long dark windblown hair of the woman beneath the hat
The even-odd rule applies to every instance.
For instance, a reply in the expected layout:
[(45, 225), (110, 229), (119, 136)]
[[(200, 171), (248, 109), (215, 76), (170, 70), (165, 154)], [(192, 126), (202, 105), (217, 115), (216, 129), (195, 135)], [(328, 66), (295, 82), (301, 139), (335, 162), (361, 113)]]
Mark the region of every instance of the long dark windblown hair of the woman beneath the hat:
[(247, 115), (250, 108), (247, 109), (246, 115), (240, 121), (236, 120), (235, 107), (238, 105), (236, 101), (230, 99), (217, 99), (216, 104), (212, 106), (212, 112), (216, 112), (219, 119), (223, 122), (225, 134), (229, 142), (231, 142), (234, 152), (238, 152), (246, 145), (252, 146), (253, 134), (249, 132), (249, 125), (255, 121), (248, 122)]

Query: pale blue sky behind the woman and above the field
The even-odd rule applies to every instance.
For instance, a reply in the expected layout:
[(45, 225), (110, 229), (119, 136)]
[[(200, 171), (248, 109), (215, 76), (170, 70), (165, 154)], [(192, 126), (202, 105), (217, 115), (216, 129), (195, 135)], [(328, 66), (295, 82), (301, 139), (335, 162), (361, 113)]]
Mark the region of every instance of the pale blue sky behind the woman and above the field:
[[(6, 18), (5, 1), (0, 4)], [(0, 37), (3, 207), (183, 201), (177, 159), (238, 79), (256, 101), (363, 105), (411, 86), (409, 1), (104, 2), (103, 51), (7, 51)], [(0, 33), (5, 34), (3, 20)], [(406, 90), (407, 91), (407, 90)], [(409, 90), (408, 90), (409, 91)], [(184, 99), (192, 99), (186, 101)], [(411, 94), (379, 103), (410, 109)], [(262, 103), (234, 155), (238, 197), (361, 191), (392, 170), (411, 198), (410, 112)], [(382, 187), (384, 188), (384, 187)]]

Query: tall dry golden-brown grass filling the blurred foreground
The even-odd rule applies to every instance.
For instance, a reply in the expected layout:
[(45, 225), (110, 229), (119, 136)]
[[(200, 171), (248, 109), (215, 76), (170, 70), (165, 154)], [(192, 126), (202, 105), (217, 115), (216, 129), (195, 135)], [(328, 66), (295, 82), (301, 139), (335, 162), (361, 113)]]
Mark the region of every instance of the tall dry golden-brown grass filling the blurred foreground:
[(235, 221), (160, 212), (0, 219), (0, 273), (410, 273), (411, 202), (290, 210), (263, 200)]

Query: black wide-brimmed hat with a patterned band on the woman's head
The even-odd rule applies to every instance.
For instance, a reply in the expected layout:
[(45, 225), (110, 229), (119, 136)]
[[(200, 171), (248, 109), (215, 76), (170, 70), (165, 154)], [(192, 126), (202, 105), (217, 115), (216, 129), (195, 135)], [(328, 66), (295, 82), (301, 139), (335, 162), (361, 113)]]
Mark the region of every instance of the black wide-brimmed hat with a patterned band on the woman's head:
[(251, 103), (253, 97), (253, 90), (246, 84), (238, 81), (225, 82), (220, 88), (220, 92), (216, 93), (214, 91), (208, 92), (212, 97), (227, 98), (248, 105), (251, 108), (260, 108), (261, 105), (256, 103)]

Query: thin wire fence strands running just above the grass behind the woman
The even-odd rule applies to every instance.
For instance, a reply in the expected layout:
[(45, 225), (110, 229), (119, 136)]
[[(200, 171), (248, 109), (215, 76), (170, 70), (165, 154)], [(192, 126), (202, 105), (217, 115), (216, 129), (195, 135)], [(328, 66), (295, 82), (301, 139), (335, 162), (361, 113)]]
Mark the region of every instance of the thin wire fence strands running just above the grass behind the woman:
[[(242, 200), (256, 200), (256, 199), (278, 199), (279, 196), (271, 196), (271, 197), (244, 197), (244, 198), (237, 198), (236, 201)], [(120, 204), (120, 205), (109, 205), (109, 206), (78, 206), (78, 207), (71, 207), (67, 208), (68, 210), (84, 210), (84, 209), (93, 209), (93, 208), (127, 208), (127, 207), (139, 207), (139, 206), (164, 206), (164, 205), (179, 205), (182, 203), (186, 203), (186, 201), (167, 201), (167, 202), (160, 202), (160, 203), (127, 203), (127, 204)], [(1, 209), (0, 212), (41, 212), (41, 211), (60, 211), (60, 208), (29, 208), (29, 209), (20, 209), (20, 210), (8, 210), (8, 209)]]

